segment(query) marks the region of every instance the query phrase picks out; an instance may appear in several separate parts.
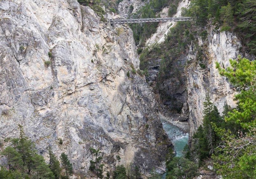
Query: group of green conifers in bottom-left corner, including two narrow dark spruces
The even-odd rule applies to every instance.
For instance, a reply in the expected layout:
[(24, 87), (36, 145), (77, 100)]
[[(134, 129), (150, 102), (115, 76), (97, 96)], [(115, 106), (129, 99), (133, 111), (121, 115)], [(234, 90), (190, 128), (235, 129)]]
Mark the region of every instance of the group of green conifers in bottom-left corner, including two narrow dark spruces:
[(61, 167), (57, 157), (49, 147), (50, 163), (46, 164), (43, 156), (37, 154), (35, 143), (25, 136), (19, 125), (20, 137), (6, 139), (10, 142), (1, 155), (6, 158), (6, 166), (1, 166), (0, 178), (8, 179), (68, 179), (72, 174), (72, 164), (65, 153), (61, 154)]

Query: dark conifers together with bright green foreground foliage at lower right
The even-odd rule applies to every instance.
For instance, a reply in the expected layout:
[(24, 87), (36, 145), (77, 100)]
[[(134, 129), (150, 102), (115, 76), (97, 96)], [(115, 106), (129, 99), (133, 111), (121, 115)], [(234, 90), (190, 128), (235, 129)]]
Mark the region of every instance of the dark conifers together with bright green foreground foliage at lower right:
[(193, 135), (191, 160), (212, 158), (214, 168), (223, 178), (256, 177), (256, 61), (238, 57), (231, 67), (216, 67), (220, 74), (240, 91), (235, 96), (237, 107), (225, 106), (223, 116), (210, 99), (204, 103), (203, 126)]

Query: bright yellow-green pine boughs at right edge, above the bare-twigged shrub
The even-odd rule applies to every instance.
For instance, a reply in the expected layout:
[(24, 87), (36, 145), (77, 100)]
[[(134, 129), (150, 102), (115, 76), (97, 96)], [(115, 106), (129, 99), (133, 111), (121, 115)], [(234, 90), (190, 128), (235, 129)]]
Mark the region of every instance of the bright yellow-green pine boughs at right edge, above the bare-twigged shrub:
[(228, 113), (225, 121), (249, 129), (250, 126), (256, 126), (256, 61), (239, 56), (237, 60), (230, 60), (230, 64), (231, 67), (225, 70), (216, 63), (220, 74), (229, 78), (229, 81), (241, 90), (235, 96), (238, 100), (237, 108)]

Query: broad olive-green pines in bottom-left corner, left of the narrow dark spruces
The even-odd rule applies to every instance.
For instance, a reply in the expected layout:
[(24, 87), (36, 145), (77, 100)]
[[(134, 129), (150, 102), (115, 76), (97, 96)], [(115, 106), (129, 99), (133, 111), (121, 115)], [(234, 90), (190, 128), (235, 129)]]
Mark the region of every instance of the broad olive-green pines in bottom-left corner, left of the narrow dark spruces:
[[(37, 154), (35, 144), (25, 136), (23, 127), (18, 125), (20, 137), (11, 139), (1, 155), (7, 159), (7, 169), (1, 168), (0, 178), (45, 178), (53, 179), (54, 175), (45, 159)], [(3, 177), (2, 177), (3, 176)]]

